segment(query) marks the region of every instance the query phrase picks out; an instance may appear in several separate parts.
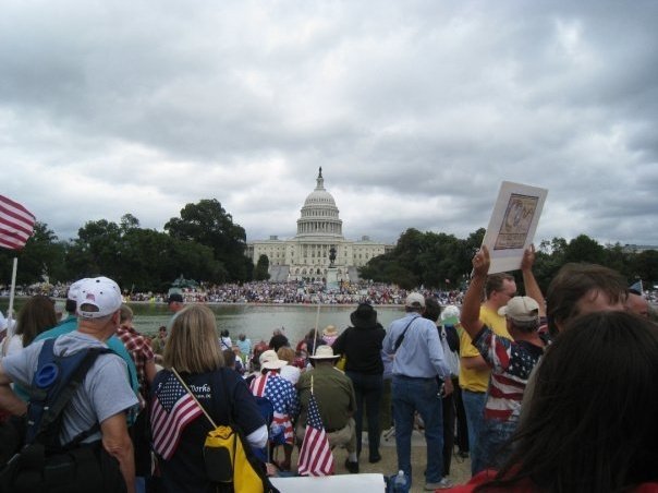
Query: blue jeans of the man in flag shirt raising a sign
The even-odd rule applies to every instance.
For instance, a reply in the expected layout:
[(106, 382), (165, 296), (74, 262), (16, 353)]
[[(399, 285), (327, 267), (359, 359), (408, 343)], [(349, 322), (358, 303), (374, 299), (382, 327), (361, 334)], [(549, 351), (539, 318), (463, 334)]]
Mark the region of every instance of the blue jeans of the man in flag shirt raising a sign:
[(474, 474), (489, 468), (498, 470), (507, 462), (512, 454), (509, 441), (516, 430), (516, 420), (483, 420), (475, 445), (475, 459), (471, 459)]

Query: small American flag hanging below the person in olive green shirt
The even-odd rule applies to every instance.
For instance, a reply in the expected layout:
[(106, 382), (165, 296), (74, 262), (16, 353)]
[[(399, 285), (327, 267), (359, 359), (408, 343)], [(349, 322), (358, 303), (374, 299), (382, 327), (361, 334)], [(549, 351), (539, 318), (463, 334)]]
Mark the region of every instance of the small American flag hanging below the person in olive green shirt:
[(313, 394), (308, 398), (306, 432), (300, 450), (297, 472), (300, 476), (329, 476), (333, 473), (333, 454), (331, 454), (329, 440), (325, 433), (325, 426), (322, 426), (320, 410)]

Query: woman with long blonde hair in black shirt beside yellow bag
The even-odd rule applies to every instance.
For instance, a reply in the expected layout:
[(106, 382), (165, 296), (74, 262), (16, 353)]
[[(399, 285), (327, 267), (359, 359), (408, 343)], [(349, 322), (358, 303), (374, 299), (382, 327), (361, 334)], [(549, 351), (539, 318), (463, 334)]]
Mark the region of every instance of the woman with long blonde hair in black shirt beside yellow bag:
[[(253, 447), (263, 448), (267, 442), (267, 426), (254, 397), (240, 375), (223, 364), (210, 309), (192, 304), (181, 310), (164, 348), (164, 370), (151, 386), (154, 448), (168, 492), (216, 491), (203, 455), (212, 425), (203, 412), (193, 412), (198, 406), (217, 425), (237, 424)], [(186, 408), (176, 406), (190, 393), (195, 401)], [(187, 411), (176, 416), (179, 409)]]

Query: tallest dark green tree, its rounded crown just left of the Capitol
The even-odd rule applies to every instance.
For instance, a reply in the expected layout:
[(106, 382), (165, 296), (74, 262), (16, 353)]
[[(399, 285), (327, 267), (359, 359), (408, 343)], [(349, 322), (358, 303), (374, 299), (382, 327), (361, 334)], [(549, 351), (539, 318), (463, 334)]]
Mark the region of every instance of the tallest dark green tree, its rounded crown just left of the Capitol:
[(229, 280), (247, 279), (246, 233), (217, 200), (204, 199), (197, 204), (185, 205), (181, 217), (172, 217), (164, 230), (175, 239), (195, 241), (212, 249)]

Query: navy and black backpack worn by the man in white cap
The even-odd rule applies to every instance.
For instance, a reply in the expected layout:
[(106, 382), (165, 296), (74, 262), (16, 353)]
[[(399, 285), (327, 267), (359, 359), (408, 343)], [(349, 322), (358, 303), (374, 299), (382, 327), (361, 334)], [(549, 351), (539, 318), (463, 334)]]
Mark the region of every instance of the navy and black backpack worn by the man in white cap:
[(53, 353), (54, 339), (46, 339), (29, 387), (26, 418), (14, 421), (17, 447), (0, 467), (0, 493), (121, 492), (125, 483), (119, 462), (100, 441), (82, 442), (100, 430), (95, 423), (68, 444), (59, 441), (63, 411), (99, 354), (109, 348), (87, 348), (68, 356)]

